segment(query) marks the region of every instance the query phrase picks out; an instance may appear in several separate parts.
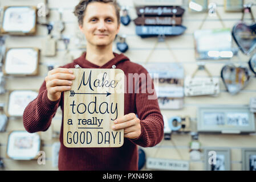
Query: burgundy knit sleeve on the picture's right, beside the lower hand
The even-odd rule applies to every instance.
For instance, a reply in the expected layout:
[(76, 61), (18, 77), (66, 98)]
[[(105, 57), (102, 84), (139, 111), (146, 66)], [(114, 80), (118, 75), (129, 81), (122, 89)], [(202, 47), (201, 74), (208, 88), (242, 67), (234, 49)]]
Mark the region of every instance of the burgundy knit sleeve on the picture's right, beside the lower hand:
[(153, 147), (160, 143), (164, 137), (164, 120), (153, 81), (146, 69), (143, 69), (142, 73), (146, 75), (147, 80), (140, 79), (135, 86), (139, 89), (139, 92), (135, 93), (135, 99), (141, 134), (138, 138), (131, 139), (131, 141), (141, 147)]

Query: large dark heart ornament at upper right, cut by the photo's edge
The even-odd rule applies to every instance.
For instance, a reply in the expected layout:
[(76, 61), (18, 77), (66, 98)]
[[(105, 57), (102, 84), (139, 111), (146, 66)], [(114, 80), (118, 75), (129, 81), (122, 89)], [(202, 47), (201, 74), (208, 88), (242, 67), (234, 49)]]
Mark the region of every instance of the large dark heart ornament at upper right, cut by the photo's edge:
[(243, 53), (249, 55), (256, 47), (256, 23), (247, 26), (243, 22), (235, 24), (232, 36)]

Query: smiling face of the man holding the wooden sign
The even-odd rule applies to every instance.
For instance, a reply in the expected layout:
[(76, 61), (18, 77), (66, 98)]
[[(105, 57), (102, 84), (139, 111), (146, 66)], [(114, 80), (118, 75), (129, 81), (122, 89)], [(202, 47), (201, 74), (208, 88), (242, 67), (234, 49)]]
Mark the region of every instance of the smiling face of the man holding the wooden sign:
[(86, 8), (83, 26), (79, 28), (86, 36), (87, 44), (109, 46), (120, 29), (115, 7), (110, 3), (90, 3)]

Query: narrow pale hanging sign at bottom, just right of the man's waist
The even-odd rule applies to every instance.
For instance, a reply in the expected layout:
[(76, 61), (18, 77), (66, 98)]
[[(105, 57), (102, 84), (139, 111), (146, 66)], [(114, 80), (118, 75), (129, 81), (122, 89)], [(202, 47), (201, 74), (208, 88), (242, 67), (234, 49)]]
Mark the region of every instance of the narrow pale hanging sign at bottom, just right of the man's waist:
[(147, 169), (160, 169), (169, 171), (188, 171), (189, 162), (185, 160), (170, 160), (147, 158)]

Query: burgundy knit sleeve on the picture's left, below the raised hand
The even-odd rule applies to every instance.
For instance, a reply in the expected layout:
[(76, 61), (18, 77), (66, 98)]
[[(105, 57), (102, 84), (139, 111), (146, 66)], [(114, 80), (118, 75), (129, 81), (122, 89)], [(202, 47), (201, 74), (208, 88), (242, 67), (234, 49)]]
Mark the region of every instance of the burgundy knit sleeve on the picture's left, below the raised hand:
[(59, 102), (51, 101), (47, 97), (46, 82), (39, 89), (38, 97), (27, 105), (23, 113), (23, 125), (29, 133), (46, 131), (51, 125), (51, 119), (58, 109)]

